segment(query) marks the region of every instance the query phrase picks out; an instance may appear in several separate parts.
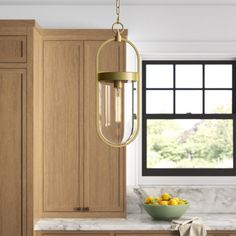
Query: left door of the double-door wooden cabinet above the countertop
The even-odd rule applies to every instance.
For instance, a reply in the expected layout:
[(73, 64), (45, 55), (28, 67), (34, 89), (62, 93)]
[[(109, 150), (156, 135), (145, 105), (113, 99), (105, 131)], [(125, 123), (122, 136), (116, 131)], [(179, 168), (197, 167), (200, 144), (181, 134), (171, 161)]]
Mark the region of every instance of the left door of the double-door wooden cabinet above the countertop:
[(82, 205), (80, 117), (83, 42), (44, 42), (44, 212)]

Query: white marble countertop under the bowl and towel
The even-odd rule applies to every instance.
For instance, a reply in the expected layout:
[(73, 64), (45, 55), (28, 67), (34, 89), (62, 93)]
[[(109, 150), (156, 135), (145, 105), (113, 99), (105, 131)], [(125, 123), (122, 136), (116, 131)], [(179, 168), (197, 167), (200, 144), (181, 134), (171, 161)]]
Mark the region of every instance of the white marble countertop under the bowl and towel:
[[(185, 214), (182, 219), (199, 217), (208, 230), (236, 230), (236, 214)], [(34, 225), (35, 231), (44, 230), (170, 230), (167, 221), (153, 220), (146, 213), (128, 214), (125, 219), (40, 219)]]

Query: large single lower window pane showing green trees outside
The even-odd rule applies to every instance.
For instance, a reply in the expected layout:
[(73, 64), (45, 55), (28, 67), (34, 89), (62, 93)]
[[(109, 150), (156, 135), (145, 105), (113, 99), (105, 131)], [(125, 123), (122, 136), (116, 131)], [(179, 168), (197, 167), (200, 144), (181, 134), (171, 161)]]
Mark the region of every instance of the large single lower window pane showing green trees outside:
[(147, 168), (233, 168), (233, 121), (147, 120)]

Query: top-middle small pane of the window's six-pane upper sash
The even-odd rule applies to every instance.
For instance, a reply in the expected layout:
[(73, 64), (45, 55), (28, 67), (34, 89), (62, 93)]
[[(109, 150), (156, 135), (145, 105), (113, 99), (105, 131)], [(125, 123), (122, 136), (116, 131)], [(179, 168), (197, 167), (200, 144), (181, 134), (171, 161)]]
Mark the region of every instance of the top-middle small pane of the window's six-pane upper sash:
[(202, 65), (176, 65), (176, 88), (202, 88)]

